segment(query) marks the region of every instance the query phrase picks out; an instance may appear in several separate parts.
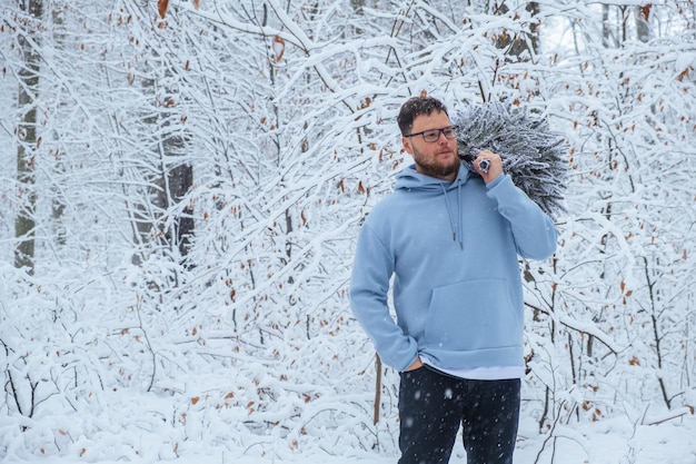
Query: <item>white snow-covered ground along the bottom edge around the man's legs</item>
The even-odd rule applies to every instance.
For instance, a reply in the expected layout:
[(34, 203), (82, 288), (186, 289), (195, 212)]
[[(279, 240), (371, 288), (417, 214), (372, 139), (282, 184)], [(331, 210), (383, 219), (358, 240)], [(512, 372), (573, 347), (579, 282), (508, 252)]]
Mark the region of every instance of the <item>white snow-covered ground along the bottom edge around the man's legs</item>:
[[(118, 442), (118, 437), (112, 437)], [(143, 438), (147, 447), (161, 446), (157, 435)], [(92, 461), (84, 456), (67, 455), (37, 457), (34, 460), (3, 460), (3, 463), (73, 464), (123, 462), (153, 463), (176, 462), (178, 464), (394, 464), (395, 455), (356, 453), (355, 450), (330, 450), (327, 453), (290, 452), (288, 450), (210, 448), (203, 443), (188, 443), (187, 454), (170, 460), (155, 457), (138, 458), (118, 456), (115, 450), (112, 460)], [(458, 442), (450, 464), (466, 464), (466, 454)], [(554, 436), (540, 436), (536, 424), (523, 418), (515, 464), (696, 464), (696, 416), (686, 415), (679, 419), (659, 425), (634, 425), (626, 419), (607, 419), (591, 425), (556, 425)]]

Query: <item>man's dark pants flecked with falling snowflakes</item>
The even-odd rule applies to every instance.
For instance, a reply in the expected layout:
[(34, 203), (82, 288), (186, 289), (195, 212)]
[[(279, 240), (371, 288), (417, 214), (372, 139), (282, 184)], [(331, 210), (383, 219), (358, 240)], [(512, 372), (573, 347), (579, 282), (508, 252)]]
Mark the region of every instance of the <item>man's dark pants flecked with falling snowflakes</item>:
[(468, 381), (425, 366), (401, 373), (399, 464), (447, 464), (464, 432), (467, 464), (513, 464), (520, 381)]

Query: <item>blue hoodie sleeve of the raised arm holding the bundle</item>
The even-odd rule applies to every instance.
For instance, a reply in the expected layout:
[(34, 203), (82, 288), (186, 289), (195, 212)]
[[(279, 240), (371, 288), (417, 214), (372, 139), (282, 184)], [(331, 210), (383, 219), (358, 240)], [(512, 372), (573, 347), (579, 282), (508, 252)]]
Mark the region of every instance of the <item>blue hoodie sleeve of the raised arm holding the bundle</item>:
[(487, 195), (498, 203), (498, 213), (513, 229), (517, 253), (529, 259), (546, 259), (556, 251), (556, 227), (539, 206), (513, 184), (509, 175), (498, 176)]

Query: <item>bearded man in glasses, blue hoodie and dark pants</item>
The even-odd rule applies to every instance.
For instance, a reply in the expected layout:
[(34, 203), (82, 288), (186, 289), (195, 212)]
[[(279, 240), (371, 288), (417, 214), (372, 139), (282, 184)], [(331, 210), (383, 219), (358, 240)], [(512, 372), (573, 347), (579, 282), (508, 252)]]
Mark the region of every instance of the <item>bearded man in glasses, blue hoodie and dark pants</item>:
[(511, 464), (524, 375), (518, 255), (551, 256), (556, 229), (498, 155), (481, 151), (478, 174), (460, 162), (439, 100), (409, 99), (398, 125), (415, 166), (360, 229), (350, 300), (400, 373), (399, 464), (447, 463), (460, 425), (468, 464)]

